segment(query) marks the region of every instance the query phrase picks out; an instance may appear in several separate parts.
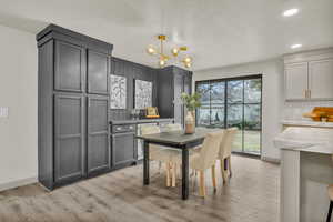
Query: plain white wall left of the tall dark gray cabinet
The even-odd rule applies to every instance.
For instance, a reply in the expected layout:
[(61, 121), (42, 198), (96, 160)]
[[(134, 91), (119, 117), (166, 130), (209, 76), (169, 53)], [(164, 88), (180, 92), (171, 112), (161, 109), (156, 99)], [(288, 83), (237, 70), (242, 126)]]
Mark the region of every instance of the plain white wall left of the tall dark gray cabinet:
[(0, 190), (37, 181), (37, 64), (34, 36), (0, 26)]

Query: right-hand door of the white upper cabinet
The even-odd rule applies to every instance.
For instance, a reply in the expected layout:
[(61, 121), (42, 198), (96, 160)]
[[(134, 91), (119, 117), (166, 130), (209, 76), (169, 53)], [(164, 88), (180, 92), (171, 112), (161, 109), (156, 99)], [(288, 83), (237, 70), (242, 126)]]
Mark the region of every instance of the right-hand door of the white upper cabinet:
[(333, 59), (309, 62), (311, 99), (333, 99)]

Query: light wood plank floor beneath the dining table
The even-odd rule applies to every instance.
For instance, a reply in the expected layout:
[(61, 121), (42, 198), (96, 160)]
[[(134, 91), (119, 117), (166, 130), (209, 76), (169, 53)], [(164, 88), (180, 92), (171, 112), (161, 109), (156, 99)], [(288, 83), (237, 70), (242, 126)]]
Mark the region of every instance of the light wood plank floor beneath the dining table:
[(180, 181), (176, 188), (165, 188), (165, 176), (157, 173), (157, 164), (149, 186), (142, 185), (142, 165), (52, 192), (38, 184), (26, 185), (0, 192), (0, 221), (278, 222), (279, 165), (233, 155), (232, 167), (233, 178), (224, 185), (216, 169), (216, 193), (206, 175), (205, 199), (198, 195), (198, 182), (192, 178), (188, 201), (180, 200)]

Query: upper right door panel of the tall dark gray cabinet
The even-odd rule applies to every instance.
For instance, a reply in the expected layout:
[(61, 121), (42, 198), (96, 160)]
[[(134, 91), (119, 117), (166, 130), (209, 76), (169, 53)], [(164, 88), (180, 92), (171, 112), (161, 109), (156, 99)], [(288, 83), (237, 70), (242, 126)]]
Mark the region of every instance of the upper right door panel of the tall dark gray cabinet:
[(108, 94), (110, 58), (88, 50), (88, 93)]

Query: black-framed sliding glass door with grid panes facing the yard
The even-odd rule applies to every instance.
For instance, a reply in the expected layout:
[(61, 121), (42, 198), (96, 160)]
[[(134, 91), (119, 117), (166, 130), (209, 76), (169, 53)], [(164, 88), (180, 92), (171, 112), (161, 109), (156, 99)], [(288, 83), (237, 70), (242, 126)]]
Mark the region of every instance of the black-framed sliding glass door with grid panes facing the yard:
[(195, 82), (196, 124), (239, 129), (233, 151), (261, 154), (261, 75)]

